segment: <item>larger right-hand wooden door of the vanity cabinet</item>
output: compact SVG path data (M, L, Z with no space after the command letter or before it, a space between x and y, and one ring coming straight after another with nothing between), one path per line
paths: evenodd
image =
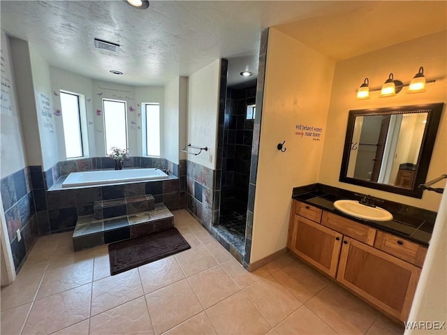
M420 269L344 237L337 281L399 320L406 321Z

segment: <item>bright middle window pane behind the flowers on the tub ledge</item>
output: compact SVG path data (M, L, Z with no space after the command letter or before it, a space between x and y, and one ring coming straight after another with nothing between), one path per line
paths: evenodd
M127 149L126 101L103 99L105 152L112 147Z

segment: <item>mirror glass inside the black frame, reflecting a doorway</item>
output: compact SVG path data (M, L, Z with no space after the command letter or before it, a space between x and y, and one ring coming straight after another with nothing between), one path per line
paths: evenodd
M426 121L427 113L356 117L348 175L411 188Z

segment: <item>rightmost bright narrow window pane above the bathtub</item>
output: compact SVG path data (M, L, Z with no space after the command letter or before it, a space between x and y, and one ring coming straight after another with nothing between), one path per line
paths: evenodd
M145 103L147 156L160 156L160 104Z

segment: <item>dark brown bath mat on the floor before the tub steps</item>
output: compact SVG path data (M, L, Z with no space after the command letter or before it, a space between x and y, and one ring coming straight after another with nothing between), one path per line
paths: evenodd
M191 246L177 228L170 228L135 239L109 244L110 274L139 267L154 260L179 253Z

